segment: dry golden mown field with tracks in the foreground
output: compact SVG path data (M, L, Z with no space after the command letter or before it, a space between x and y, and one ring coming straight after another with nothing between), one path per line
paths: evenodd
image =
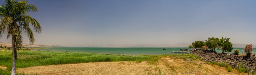
M217 65L196 60L160 58L158 62L99 62L18 68L18 73L37 75L234 75Z

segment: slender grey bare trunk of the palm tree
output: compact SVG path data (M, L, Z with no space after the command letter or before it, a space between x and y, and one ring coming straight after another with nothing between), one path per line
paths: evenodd
M16 51L15 44L13 41L13 68L12 68L11 75L16 75L16 57L17 57L17 51Z

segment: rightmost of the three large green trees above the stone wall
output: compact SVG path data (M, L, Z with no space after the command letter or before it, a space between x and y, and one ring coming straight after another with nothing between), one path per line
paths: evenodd
M218 40L217 44L218 44L218 48L220 48L222 50L222 53L224 52L231 52L233 47L232 47L232 43L229 42L230 38L221 38Z

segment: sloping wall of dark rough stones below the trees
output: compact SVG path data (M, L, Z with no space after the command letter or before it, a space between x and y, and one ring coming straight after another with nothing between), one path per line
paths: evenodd
M190 51L189 54L196 54L199 58L203 58L204 61L217 63L228 63L234 68L238 68L240 63L243 63L243 67L248 67L250 70L255 69L256 56L247 57L246 55L233 55L233 54L222 54L222 53L205 53L201 50Z

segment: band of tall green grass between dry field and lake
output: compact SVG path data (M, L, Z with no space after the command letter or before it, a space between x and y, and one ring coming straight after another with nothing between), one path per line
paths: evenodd
M18 51L16 68L27 68L43 65L57 65L70 63L89 63L89 62L115 62L115 61L157 61L154 56L143 55L111 55L93 54L76 52L48 52L48 51ZM12 52L0 51L0 66L12 69Z

